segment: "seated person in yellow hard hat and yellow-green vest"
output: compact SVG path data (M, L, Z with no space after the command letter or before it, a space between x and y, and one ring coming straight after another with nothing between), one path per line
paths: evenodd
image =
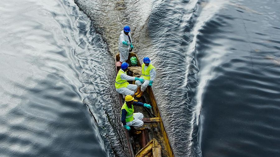
M123 127L128 130L130 130L129 126L134 126L135 129L140 129L140 127L144 124L142 121L144 116L140 112L134 113L133 105L152 108L151 105L142 102L135 102L133 101L134 98L131 95L125 96L124 100L125 102L121 109L121 122L123 123Z

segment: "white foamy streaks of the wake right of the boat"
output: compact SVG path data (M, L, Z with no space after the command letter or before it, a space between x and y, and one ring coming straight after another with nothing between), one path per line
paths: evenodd
M194 54L195 53L195 48L196 48L196 43L197 43L197 37L198 34L200 33L200 29L203 28L204 24L207 23L209 20L211 20L211 18L215 15L215 13L217 13L219 10L221 10L223 8L223 6L225 6L226 4L228 4L228 2L224 1L224 0L215 0L215 1L209 1L209 2L202 2L200 5L201 7L203 7L201 9L201 12L196 20L196 24L193 27L193 31L192 34L194 35L193 40L190 42L189 46L188 46L188 50L186 51L187 54ZM221 42L225 42L225 41L221 41ZM225 44L226 45L226 44ZM227 44L229 45L229 44ZM211 65L208 66L204 66L204 67L200 67L199 68L199 85L196 87L196 95L193 98L193 103L196 103L196 108L194 108L194 117L193 117L193 123L194 125L192 125L192 127L198 125L198 117L201 111L201 107L202 107L202 97L203 97L203 92L204 92L204 88L207 85L207 82L209 80L211 80L213 77L215 77L215 74L212 72L213 69L217 66L219 66L222 61L219 60L220 57L222 57L223 55L225 55L226 53L226 46L223 46L222 49L219 50L212 50L211 53L208 53L207 57L207 63L211 63ZM199 52L197 52L199 53ZM191 61L193 60L193 57L186 57L186 60L189 60L188 63L191 63ZM199 63L196 63L199 64ZM184 86L187 85L187 81L188 81L188 74L190 71L190 64L187 65L186 68L186 79L184 82ZM194 128L192 128L194 129ZM201 128L199 128L201 129Z

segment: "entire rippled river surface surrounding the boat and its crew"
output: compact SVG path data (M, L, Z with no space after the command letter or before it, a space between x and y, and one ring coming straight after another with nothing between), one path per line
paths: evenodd
M175 155L280 156L278 0L2 0L0 156L128 156L124 25Z

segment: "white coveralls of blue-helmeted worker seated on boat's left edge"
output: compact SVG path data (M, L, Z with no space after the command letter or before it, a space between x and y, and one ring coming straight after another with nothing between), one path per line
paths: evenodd
M128 75L125 75L125 74L121 74L121 79L122 80L127 80L127 81L133 81L135 79L135 77L128 76ZM123 95L134 95L135 92L137 91L137 85L129 84L126 88L125 87L118 88L118 89L116 88L116 91L120 94L123 94Z

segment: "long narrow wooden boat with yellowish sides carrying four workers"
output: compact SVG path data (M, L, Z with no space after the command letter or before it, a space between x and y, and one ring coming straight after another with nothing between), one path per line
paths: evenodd
M135 56L137 58L138 67L142 65L139 62L139 59L135 53L130 53L128 56L128 63L130 57ZM119 62L119 54L116 55L116 74L118 74L120 69L120 62ZM128 75L133 76L131 72L127 72ZM134 84L134 81L128 81L130 84ZM136 97L135 97L136 98ZM172 146L169 142L169 137L166 133L166 128L164 126L163 120L161 118L161 112L157 106L156 98L154 96L153 90L150 86L147 87L146 91L144 92L142 98L137 98L138 101L150 104L152 109L147 109L145 107L138 107L134 106L134 113L141 112L144 115L143 118L143 128L141 134L135 135L131 131L125 130L127 142L128 142L128 149L131 157L134 157L136 153L138 153L146 144L153 138L155 138L158 143L161 145L161 156L164 157L174 157ZM119 94L119 101L120 106L122 107L124 104L124 96Z

